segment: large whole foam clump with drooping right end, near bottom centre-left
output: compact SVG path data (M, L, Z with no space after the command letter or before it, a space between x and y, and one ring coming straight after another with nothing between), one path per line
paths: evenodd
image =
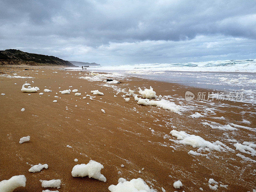
M94 178L103 182L106 182L107 179L103 174L100 173L100 170L104 166L96 161L90 160L88 164L77 164L72 169L73 177L85 177Z

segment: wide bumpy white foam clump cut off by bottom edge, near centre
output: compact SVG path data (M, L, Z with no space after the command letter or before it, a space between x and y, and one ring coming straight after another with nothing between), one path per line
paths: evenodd
M117 185L110 185L108 190L111 192L156 192L151 189L141 178L132 179L130 181L120 178Z

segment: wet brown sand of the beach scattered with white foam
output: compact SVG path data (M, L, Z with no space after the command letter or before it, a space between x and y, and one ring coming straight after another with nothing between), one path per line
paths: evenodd
M29 70L24 70L25 68ZM153 188L158 191L162 191L161 187L166 191L200 191L200 187L204 191L213 191L208 187L210 178L228 185L228 189L219 187L218 191L246 192L255 188L256 163L242 161L243 159L236 154L240 153L256 160L255 157L240 151L211 151L208 158L192 156L188 151L196 151L197 148L176 144L169 140L176 140L170 134L170 131L175 129L201 136L208 141L220 140L232 149L235 149L234 143L228 142L226 140L228 137L236 139L239 143L255 142L256 133L246 129L222 131L200 124L209 120L222 125L234 123L255 127L255 114L250 113L255 112L255 108L251 104L244 106L244 103L214 100L212 102L216 105L211 106L209 102L180 100L184 98L187 90L202 91L199 88L180 84L138 78L122 79L123 84L114 84L125 89L126 92L131 88L136 90L136 93L139 86L149 88L151 85L157 95L175 95L171 99L177 105L196 106L195 110L179 115L162 108L140 106L133 97L129 102L125 102L121 97L124 93L119 93L117 98L114 97L116 91L113 88L101 86L103 82L79 79L78 71L52 68L8 66L0 69L0 75L13 76L13 73L17 73L19 76L35 77L21 79L1 76L0 90L5 95L0 95L0 181L20 174L24 174L27 178L26 187L20 187L14 191L45 190L41 187L40 179L60 179L61 188L58 189L60 192L108 191L108 186L116 185L120 177L127 180L140 177L149 186L154 184ZM54 71L58 73L52 73ZM67 72L69 74L66 74ZM83 76L84 74L85 72ZM34 84L31 83L32 80ZM31 95L21 92L21 86L25 81L39 87L40 91L30 93ZM52 92L39 95L38 93L45 89L44 86ZM71 94L59 93L60 90L68 89L69 86L73 86L71 90L78 89L82 96L92 95L91 90L99 90L104 93L104 96L96 95L93 100L89 97L83 100L82 96L75 96L72 92ZM56 92L61 99L54 98ZM58 100L57 103L52 102L55 99ZM90 105L87 105L87 102ZM223 103L225 105L217 106ZM209 116L205 117L194 119L189 117L195 112L202 112L204 106L214 108L216 115L209 113ZM134 107L136 109L133 109ZM21 112L21 108L25 108L25 111ZM104 109L106 113L103 114L100 109ZM221 116L226 119L212 118ZM241 123L242 119L252 123L250 125ZM20 138L27 135L30 136L30 141L19 144ZM67 145L72 148L67 148ZM173 146L176 150L169 146ZM203 154L207 153L203 152ZM74 161L75 158L78 162ZM107 178L107 182L71 176L74 165L87 164L90 159L104 165L101 173ZM30 164L38 163L46 163L49 168L36 173L28 172ZM124 164L123 168L121 164ZM145 169L139 173L138 171L143 167ZM121 174L118 174L119 171ZM173 188L173 182L176 180L182 181L181 189Z

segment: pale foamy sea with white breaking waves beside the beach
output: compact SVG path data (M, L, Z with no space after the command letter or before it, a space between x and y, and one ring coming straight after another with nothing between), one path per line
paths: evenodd
M87 70L211 89L215 99L256 104L256 59L108 65Z

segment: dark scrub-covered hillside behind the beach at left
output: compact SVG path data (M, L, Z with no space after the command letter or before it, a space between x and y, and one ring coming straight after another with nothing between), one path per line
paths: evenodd
M23 52L16 49L0 51L0 65L51 65L74 66L72 63L58 57Z

